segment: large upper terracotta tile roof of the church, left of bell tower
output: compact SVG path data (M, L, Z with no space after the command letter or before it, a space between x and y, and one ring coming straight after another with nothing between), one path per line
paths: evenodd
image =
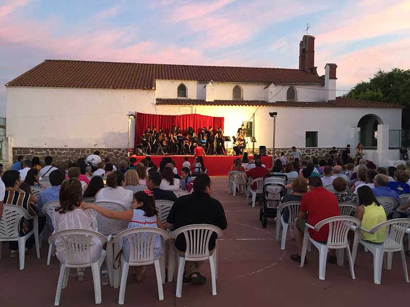
M155 79L249 83L323 84L298 69L45 60L6 86L152 89Z

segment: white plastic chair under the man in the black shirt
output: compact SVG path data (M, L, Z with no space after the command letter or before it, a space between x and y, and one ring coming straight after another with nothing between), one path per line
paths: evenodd
M218 238L222 236L222 230L219 227L208 224L196 224L178 228L171 233L171 238L176 240L179 234L185 236L187 250L185 257L181 257L175 252L175 244L170 244L170 265L168 266L168 281L172 281L175 269L175 256L178 264L178 277L176 284L176 297L182 295L182 279L185 268L185 261L202 261L209 260L212 276L212 295L216 295L216 279L218 272L218 239L215 242L215 249L212 255L209 253L209 240L212 233L216 233ZM170 280L171 279L171 280Z

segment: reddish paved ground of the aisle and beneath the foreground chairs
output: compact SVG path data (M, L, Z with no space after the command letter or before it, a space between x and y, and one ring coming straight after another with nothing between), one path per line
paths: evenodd
M359 251L356 279L350 278L347 264L343 267L327 265L326 280L318 279L318 254L308 253L309 264L304 268L289 259L295 242L288 240L281 251L274 241L275 222L269 220L262 229L259 207L245 205L243 195L227 192L227 179L213 177L213 196L221 201L228 218L226 235L220 241L217 295L211 295L211 284L183 286L182 298L175 298L175 283L164 284L163 301L157 299L154 270L149 268L141 283L128 280L126 305L139 306L385 306L405 303L410 284L404 282L400 256L393 259L393 269L383 270L382 284L373 283L373 258ZM407 246L407 245L406 245ZM0 260L0 305L52 306L58 277L58 261L52 258L46 266L47 250L43 245L40 259L30 252L26 268L18 270L17 258L9 258L3 247ZM410 257L407 258L410 262ZM209 265L201 273L210 280ZM116 306L118 290L101 286L101 306ZM69 279L61 294L60 306L83 307L94 304L91 271L86 271L84 282Z

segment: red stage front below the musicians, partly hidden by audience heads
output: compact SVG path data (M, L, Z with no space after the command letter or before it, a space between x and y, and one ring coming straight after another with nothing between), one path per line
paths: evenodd
M137 158L137 162L140 162L146 156L133 156ZM182 163L185 161L185 157L189 158L189 162L191 163L191 167L194 165L194 156L150 156L151 160L154 161L156 166L159 166L159 162L161 162L163 157L171 157L175 163L176 168L178 169L178 174L181 173ZM203 157L203 163L205 167L208 169L209 176L223 176L226 175L230 170L233 162L236 158L242 159L242 156L206 156ZM249 160L251 160L253 156L249 156ZM263 156L262 164L266 167L272 167L272 156Z

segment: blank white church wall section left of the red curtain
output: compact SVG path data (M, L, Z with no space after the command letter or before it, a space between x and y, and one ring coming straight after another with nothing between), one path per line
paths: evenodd
M7 136L13 147L126 148L126 115L154 103L155 91L7 87Z

